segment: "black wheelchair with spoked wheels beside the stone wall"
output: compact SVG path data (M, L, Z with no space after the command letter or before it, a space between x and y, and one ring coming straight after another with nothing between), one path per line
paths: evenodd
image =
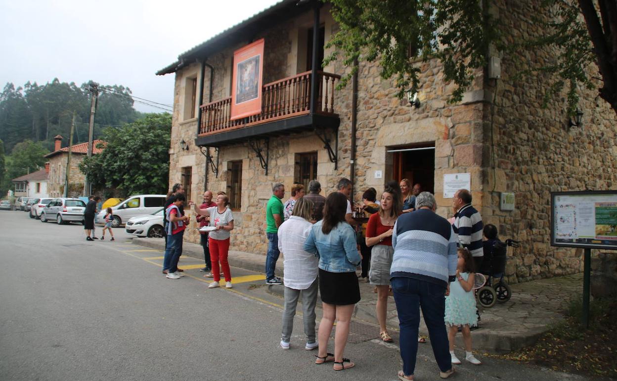
M478 303L484 308L491 308L495 303L505 303L512 297L510 285L503 280L508 246L518 248L519 241L494 240L491 249L484 251L484 261L481 268L476 271L486 278L484 285L476 291Z

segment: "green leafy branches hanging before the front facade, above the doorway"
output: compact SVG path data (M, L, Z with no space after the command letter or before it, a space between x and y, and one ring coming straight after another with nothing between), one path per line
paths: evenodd
M337 49L325 64L343 54L345 65L379 60L382 78L396 78L401 98L418 88L418 61L433 57L444 63L444 80L457 88L460 101L473 71L486 65L491 43L499 43L497 23L481 0L333 0L339 31L328 46ZM341 78L345 86L352 72Z

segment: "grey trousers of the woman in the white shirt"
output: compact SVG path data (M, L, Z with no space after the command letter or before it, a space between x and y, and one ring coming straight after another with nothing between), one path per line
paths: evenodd
M315 343L315 304L317 303L317 290L319 277L306 290L295 290L285 287L285 308L283 309L283 341L289 343L291 331L294 329L294 316L298 298L302 295L302 319L304 320L304 333L308 343Z

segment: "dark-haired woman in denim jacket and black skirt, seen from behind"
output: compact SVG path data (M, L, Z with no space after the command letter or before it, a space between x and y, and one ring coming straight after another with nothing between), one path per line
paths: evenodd
M360 301L360 287L355 269L362 261L355 241L355 231L345 222L347 198L331 193L323 207L323 220L313 225L304 250L319 257L319 289L323 317L319 325L319 353L315 364L334 361L334 370L342 371L355 364L343 358L349 336L349 322L354 306ZM334 354L328 353L328 339L336 319Z

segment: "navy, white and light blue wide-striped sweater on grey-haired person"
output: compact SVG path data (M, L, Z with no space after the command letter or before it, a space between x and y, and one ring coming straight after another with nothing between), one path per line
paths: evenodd
M392 233L391 277L447 285L457 272L457 235L443 217L428 209L402 214Z

